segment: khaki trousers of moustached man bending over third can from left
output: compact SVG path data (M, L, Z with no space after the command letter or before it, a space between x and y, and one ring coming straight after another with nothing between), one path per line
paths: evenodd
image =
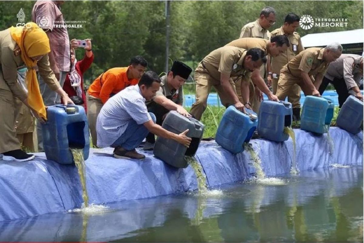
M229 97L225 94L223 87L220 84L219 80L213 79L208 73L195 71L194 80L196 82L196 101L192 105L190 114L193 115L197 120L201 120L202 113L205 111L207 107L207 97L211 91L211 87L214 87L217 91L221 99L221 103L228 107L229 105L233 105L232 97ZM230 80L230 84L236 92L234 82Z

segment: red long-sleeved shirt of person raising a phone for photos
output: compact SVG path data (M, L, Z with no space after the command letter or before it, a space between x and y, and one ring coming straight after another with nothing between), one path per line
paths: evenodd
M91 57L87 57L87 55L85 53L84 58L82 60L76 62L76 67L75 67L76 71L78 72L78 74L81 77L82 100L84 102L86 112L87 112L87 104L86 104L86 94L85 94L85 91L83 90L83 74L84 74L84 72L86 72L86 70L88 68L90 68L93 60L94 60L93 53L92 53ZM67 74L66 80L64 81L63 90L68 94L69 97L77 96L76 90L74 89L74 87L71 86L69 74Z

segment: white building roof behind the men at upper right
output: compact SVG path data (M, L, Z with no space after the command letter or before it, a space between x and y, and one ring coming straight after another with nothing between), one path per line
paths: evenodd
M364 30L347 30L337 32L308 34L301 38L302 45L307 47L327 46L332 42L340 44L363 43Z

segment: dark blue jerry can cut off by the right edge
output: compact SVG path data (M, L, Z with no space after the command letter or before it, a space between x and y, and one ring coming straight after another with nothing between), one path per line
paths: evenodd
M363 101L350 95L341 107L339 115L337 115L336 124L349 133L357 134L361 130L362 123Z

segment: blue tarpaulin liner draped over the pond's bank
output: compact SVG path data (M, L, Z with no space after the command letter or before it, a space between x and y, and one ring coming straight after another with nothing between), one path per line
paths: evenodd
M363 132L353 135L331 128L335 146L330 154L327 135L295 129L296 161L301 172L330 164L363 165ZM268 177L289 173L293 143L251 140ZM193 169L173 168L145 153L144 161L116 159L112 148L91 149L86 161L90 203L145 199L197 189ZM249 153L232 154L214 141L202 142L195 158L201 163L210 188L245 180L255 173ZM37 153L33 161L0 161L0 221L51 212L66 212L82 204L82 189L74 165L60 165Z

